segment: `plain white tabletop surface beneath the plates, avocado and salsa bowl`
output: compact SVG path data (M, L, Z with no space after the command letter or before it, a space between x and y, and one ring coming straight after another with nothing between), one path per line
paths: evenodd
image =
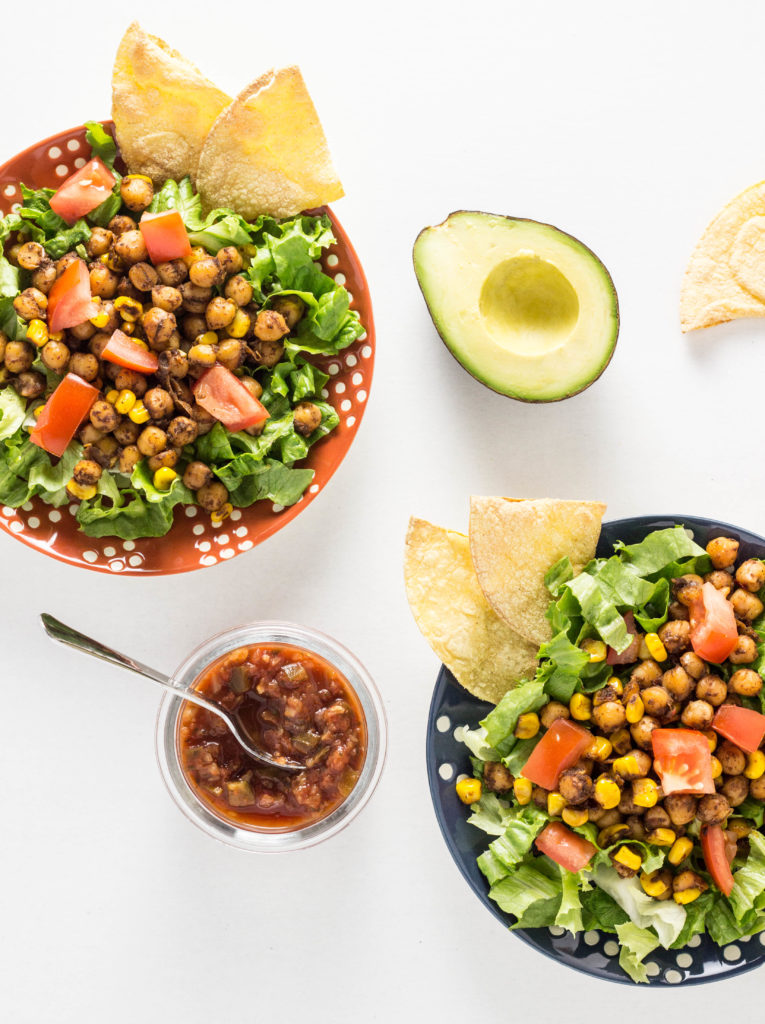
M369 275L367 418L328 488L231 562L110 579L0 537L0 1019L557 1022L760 1015L762 971L714 987L608 986L506 934L438 834L424 738L435 656L407 608L408 516L464 527L468 496L602 499L765 531L763 325L683 338L702 229L765 176L765 7L728 2L372 5L40 0L4 11L0 159L110 111L128 19L229 92L298 62ZM453 360L412 271L459 208L535 217L591 246L622 307L610 367L524 406ZM258 857L198 833L155 764L151 683L54 648L49 610L159 667L230 624L286 617L352 647L383 691L381 785L340 837Z

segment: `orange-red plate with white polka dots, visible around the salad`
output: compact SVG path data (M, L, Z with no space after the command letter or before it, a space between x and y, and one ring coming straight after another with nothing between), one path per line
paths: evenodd
M34 187L55 188L65 177L83 167L88 157L84 128L47 139L14 157L0 168L0 211L7 213L17 207L20 181ZM339 426L314 445L309 458L301 463L312 469L315 476L296 505L285 509L259 502L249 509L235 509L222 524L211 522L196 507L186 508L185 515L183 510L176 509L175 522L167 537L120 542L115 538L92 539L82 535L75 519L77 504L68 509L51 509L36 499L23 509L7 506L0 509L0 530L37 551L83 568L124 575L164 575L227 561L251 550L298 515L327 484L350 447L364 415L374 370L374 324L364 270L334 214L329 209L327 213L338 241L325 254L323 269L338 284L347 285L351 308L358 311L366 333L337 355L313 360L330 375L324 397L342 415ZM232 523L239 524L236 531Z

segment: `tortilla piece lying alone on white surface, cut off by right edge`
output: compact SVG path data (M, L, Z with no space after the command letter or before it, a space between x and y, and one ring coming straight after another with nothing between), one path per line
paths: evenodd
M765 181L718 213L690 257L680 295L680 326L695 331L743 316L765 316Z

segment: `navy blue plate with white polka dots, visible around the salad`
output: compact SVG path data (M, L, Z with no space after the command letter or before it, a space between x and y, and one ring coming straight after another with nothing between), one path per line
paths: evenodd
M598 555L612 553L613 543L635 544L654 529L682 523L692 530L697 544L706 546L713 537L724 535L740 542L743 558L765 558L765 539L728 523L695 516L639 516L604 523ZM428 716L426 756L430 795L443 839L463 878L486 909L506 927L514 919L488 898L486 880L475 858L486 848L487 837L467 823L467 814L455 792L460 775L471 773L467 748L460 741L463 726L474 728L491 710L491 705L471 696L444 667L438 674ZM584 932L571 935L560 928L517 931L527 945L546 956L607 981L631 985L619 966L619 946L612 935ZM656 949L646 957L652 985L692 985L718 981L759 967L765 961L765 932L720 947L706 936L694 936L684 949Z

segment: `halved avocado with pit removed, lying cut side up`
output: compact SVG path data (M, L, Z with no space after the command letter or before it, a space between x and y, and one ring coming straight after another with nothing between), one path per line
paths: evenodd
M415 242L438 334L476 380L522 401L584 391L619 336L613 282L570 234L536 220L460 210Z

